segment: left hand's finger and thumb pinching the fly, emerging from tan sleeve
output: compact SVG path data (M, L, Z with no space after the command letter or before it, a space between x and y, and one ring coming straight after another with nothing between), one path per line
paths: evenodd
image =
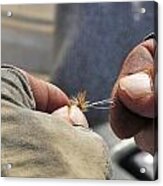
M70 100L68 96L58 87L48 82L42 81L21 70L27 77L33 96L36 102L36 110L52 113L53 116L60 117L72 125L88 127L86 117L76 106L68 106Z

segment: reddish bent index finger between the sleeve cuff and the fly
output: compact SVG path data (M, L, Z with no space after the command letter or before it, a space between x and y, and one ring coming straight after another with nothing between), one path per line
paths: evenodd
M37 79L23 71L27 77L36 102L36 109L52 113L54 110L69 105L68 96L57 86Z

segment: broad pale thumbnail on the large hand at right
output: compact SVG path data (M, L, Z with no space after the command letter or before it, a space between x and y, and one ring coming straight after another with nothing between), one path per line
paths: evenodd
M152 80L147 73L139 72L121 78L119 87L130 98L139 99L152 93Z

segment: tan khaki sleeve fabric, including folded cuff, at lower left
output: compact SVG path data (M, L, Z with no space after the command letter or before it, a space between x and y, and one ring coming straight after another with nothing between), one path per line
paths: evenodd
M99 135L35 111L25 77L14 67L1 72L2 176L110 178L108 149Z

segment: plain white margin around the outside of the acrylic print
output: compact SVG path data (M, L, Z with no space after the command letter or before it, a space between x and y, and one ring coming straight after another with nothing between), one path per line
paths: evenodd
M120 2L121 0L112 0L113 1L118 1ZM134 0L130 0L130 1L134 1ZM17 3L25 3L25 4L35 4L35 3L77 3L77 2L98 2L98 1L94 1L94 0L1 0L1 4L17 4ZM108 0L103 0L101 2L109 2ZM163 82L163 52L161 51L163 48L163 37L161 35L161 33L163 33L163 27L160 20L163 20L163 1L162 0L157 0L156 2L159 3L159 141L160 143L163 143L163 119L162 116L163 114L161 112L163 112L163 108L162 104L163 100L162 100L162 96L163 95L163 86L161 87L161 84ZM159 145L159 180L155 181L155 182L140 182L140 181L92 181L92 180L55 180L55 179L25 179L25 178L0 178L0 185L3 186L28 186L28 185L39 185L39 186L54 186L55 184L57 185L68 185L68 186L81 186L81 185L89 185L89 186L108 186L108 185L121 185L121 186L126 186L128 184L132 184L132 185L144 185L144 184L149 184L149 185L162 185L163 184L163 179L162 179L162 149L161 149L161 145Z

